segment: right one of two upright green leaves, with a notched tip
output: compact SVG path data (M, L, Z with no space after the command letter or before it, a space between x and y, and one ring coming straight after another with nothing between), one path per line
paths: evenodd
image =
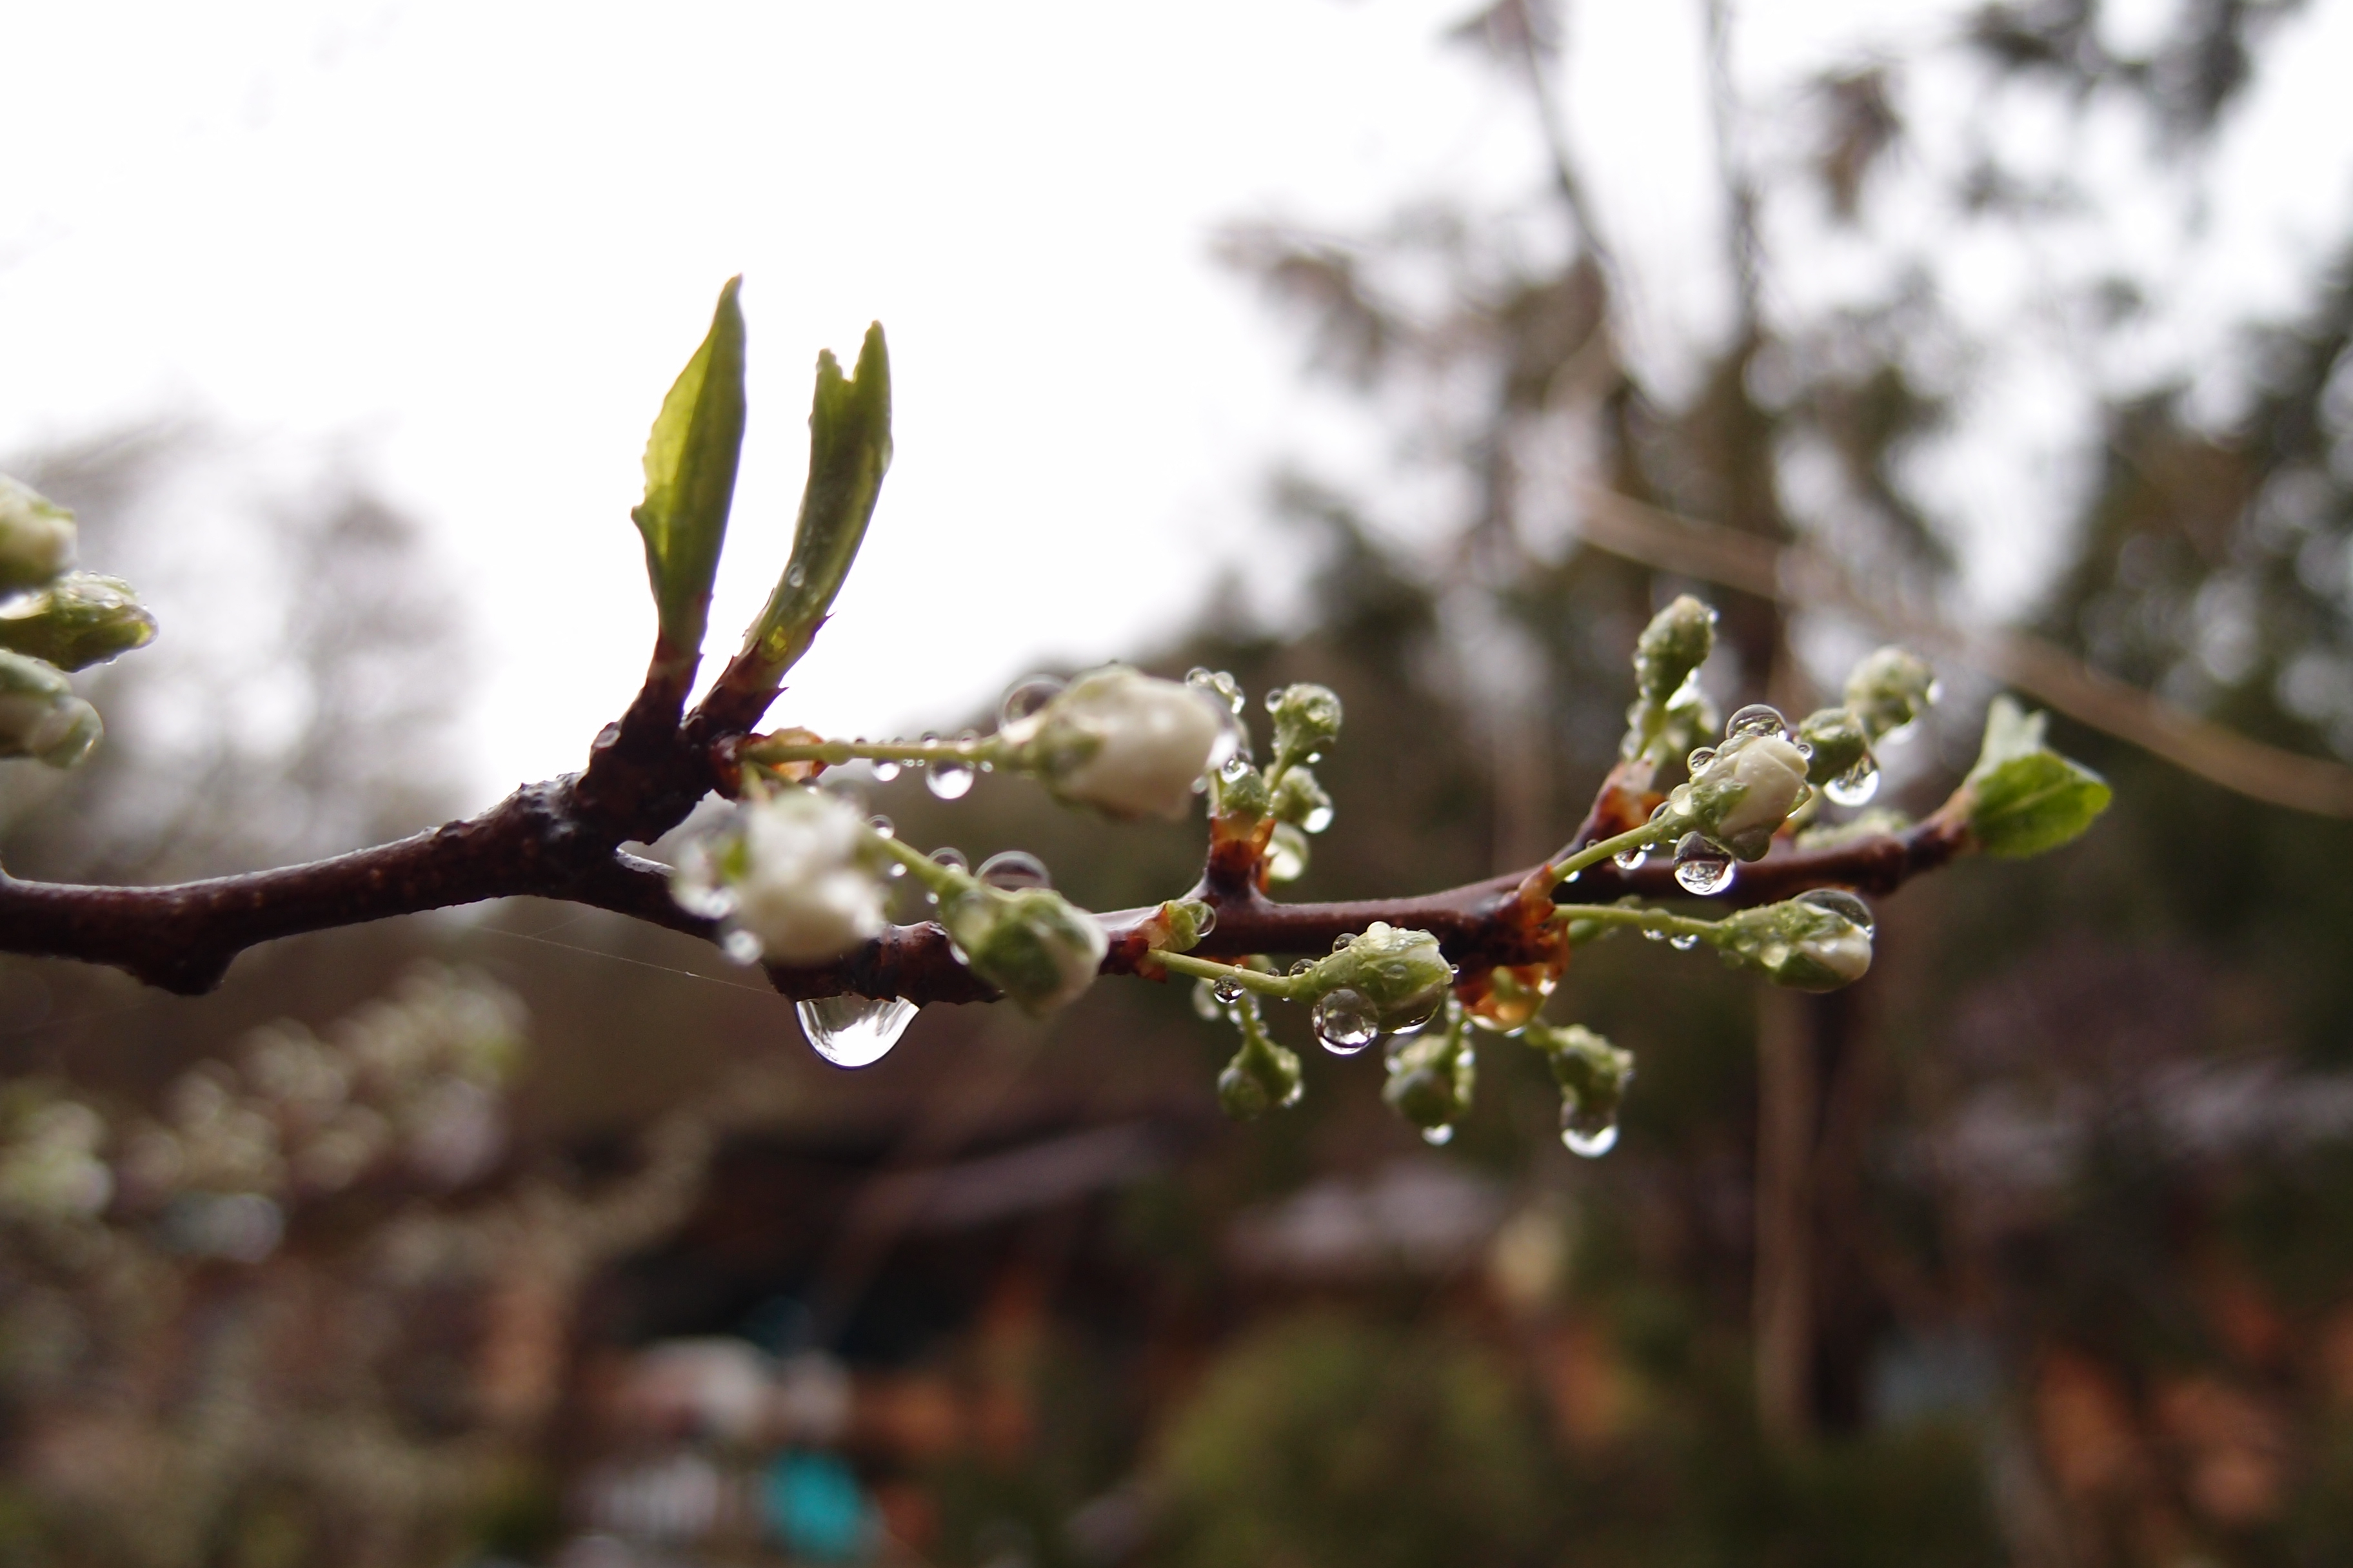
M800 496L793 559L744 637L744 663L774 684L800 663L833 609L889 470L889 350L882 322L866 329L859 367L842 376L833 353L816 355L809 409L809 484Z

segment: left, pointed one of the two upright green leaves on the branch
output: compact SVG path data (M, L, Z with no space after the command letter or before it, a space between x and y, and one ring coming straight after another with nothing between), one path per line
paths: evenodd
M678 371L645 437L645 501L631 512L645 534L645 576L661 614L661 656L692 663L711 618L711 578L727 538L736 461L744 454L741 277L720 289L704 346Z

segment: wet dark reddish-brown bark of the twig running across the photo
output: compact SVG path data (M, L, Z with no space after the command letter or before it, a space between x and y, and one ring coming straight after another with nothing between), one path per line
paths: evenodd
M525 785L480 816L393 844L268 872L146 889L0 875L0 952L111 964L148 985L200 994L259 943L518 896L609 910L718 940L715 922L671 900L668 867L626 853L621 844L659 839L711 790L734 795L734 745L760 722L776 691L772 682L746 682L739 661L694 712L685 712L694 665L666 654L656 649L638 698L616 724L605 726L581 773ZM1579 842L1593 842L1621 806L1633 804L1621 799L1638 792L1626 783L1619 773L1605 780ZM1207 865L1191 896L1217 910L1217 926L1191 952L1209 959L1327 952L1332 938L1379 919L1431 931L1447 957L1471 973L1541 959L1551 931L1544 917L1553 903L1682 896L1666 858L1652 856L1633 872L1609 863L1588 867L1548 898L1534 882L1541 867L1532 867L1414 898L1278 903L1261 891L1264 846L1264 832L1235 832L1212 820ZM1892 893L1967 846L1962 818L1951 809L1899 835L1835 849L1798 851L1784 839L1765 860L1744 865L1734 886L1708 903L1772 903L1812 886ZM1104 973L1153 973L1155 914L1122 910L1101 917L1111 933ZM920 1004L995 999L929 922L892 926L831 964L772 964L767 978L798 999L845 992Z

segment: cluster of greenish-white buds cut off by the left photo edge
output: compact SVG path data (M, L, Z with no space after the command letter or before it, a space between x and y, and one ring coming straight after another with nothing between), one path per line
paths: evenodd
M0 757L87 757L104 726L66 672L155 639L129 583L73 571L73 512L0 475Z

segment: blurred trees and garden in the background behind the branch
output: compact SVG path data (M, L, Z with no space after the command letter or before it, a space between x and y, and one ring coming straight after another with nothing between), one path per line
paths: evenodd
M2033 317L1991 329L1948 273L2108 221L2066 150L2118 120L2193 230L2200 160L2292 9L2181 5L2125 49L2092 0L1988 7L1932 56L1753 103L1713 0L1734 308L1675 386L1628 346L1642 280L1560 129L1574 12L1466 19L1447 47L1525 96L1544 190L1224 240L1391 456L1377 482L1306 461L1271 482L1271 527L1313 559L1297 623L1212 607L1151 661L1346 701L1325 766L1346 809L1299 893L1551 851L1614 757L1633 635L1682 588L1725 609L1711 689L1793 712L1864 646L1962 628L1941 639L1958 717L1885 785L1939 797L1993 682L1969 665L1981 543L1934 454L2005 395L2019 343L2061 343L2099 407L2021 621L2172 710L2353 757L2353 235L2228 364L2158 376L2113 369L2151 362L2155 273L2049 263ZM1962 134L1918 96L1953 80ZM1866 284L1800 277L1857 256ZM188 440L26 477L139 520ZM111 696L111 771L16 802L12 867L155 879L438 813L419 759L454 654L409 527L344 480L273 510L292 588L271 710L202 665ZM1711 581L1758 557L1678 517L1831 559L1845 590ZM202 1011L7 961L0 1549L2344 1561L2344 813L2235 797L2092 726L2064 745L2118 785L2101 832L1908 889L1854 992L1581 952L1572 1011L1640 1058L1598 1164L1562 1154L1541 1063L1513 1051L1442 1161L1369 1074L1313 1053L1299 1112L1226 1128L1228 1046L1176 990L1099 987L1045 1030L932 1009L835 1074L696 943L574 910L301 938ZM1193 830L1073 820L1005 778L953 813L911 778L873 797L974 860L1064 844L1087 907L1158 900L1198 860ZM508 1044L468 1056L485 1032L452 1009ZM391 1023L412 1016L440 1023ZM367 1044L388 1037L426 1044ZM245 1145L191 1164L221 1128ZM313 1154L329 1133L346 1154ZM139 1175L165 1135L179 1175Z

